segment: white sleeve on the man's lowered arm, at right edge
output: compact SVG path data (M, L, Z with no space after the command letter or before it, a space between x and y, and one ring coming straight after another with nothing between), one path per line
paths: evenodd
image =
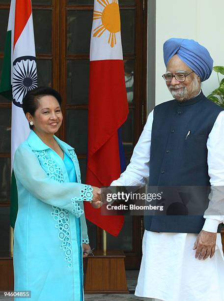
M208 136L207 149L212 193L202 230L216 233L219 224L224 222L224 111L218 115ZM216 215L209 215L209 212L215 212Z

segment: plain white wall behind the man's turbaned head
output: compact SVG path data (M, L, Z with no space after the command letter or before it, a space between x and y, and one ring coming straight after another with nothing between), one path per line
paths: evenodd
M150 0L148 2L150 8ZM214 65L224 65L223 13L224 0L156 0L156 105L172 99L162 78L166 71L163 44L168 38L195 39L209 50ZM148 24L150 26L150 20ZM202 90L208 95L217 87L217 73L213 71L202 83Z

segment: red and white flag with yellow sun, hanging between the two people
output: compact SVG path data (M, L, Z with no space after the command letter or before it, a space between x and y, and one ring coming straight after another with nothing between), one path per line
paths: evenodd
M109 186L124 171L120 127L128 116L118 0L95 0L90 44L86 182ZM85 202L88 220L117 236L123 216L103 216Z

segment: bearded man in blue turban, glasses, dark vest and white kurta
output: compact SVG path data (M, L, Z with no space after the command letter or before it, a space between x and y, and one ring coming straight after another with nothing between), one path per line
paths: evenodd
M224 110L201 82L212 72L209 52L194 40L164 44L163 78L173 100L149 114L131 163L111 186L224 185ZM203 198L198 196L199 205ZM222 213L223 214L223 213ZM144 216L136 296L164 301L224 301L221 215ZM219 227L218 227L219 226Z

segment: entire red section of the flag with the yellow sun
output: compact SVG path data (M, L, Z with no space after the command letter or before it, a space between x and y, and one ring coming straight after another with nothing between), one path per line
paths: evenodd
M120 176L118 128L128 115L123 60L90 62L88 107L88 160L86 182L109 186ZM85 202L85 216L98 227L117 236L123 216L103 216Z

